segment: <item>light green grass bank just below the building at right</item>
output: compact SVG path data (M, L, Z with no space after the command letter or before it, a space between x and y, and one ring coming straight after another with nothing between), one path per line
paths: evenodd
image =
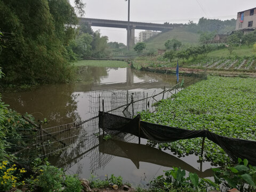
M248 56L251 57L255 55L255 52L253 52L252 47L248 47L246 45L243 45L241 47L235 47L234 51L232 52L233 56ZM213 51L208 54L209 57L228 57L230 56L228 49L221 49L218 51Z

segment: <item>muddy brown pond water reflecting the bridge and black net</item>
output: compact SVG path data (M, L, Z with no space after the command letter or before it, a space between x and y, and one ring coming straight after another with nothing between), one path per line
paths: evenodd
M104 95L102 90L109 90L107 95L111 93L111 97L116 92L134 92L137 93L134 95L145 97L147 93L150 96L163 91L164 87L172 87L176 81L175 75L130 68L81 67L79 81L76 83L42 85L35 90L3 93L2 97L10 108L21 114L32 114L36 121L46 118L48 123L44 127L51 127L95 116L100 105L97 100L99 91ZM165 94L165 98L170 94ZM162 96L159 95L158 99L162 99ZM151 99L149 102L151 104L155 101ZM114 104L119 105L117 99ZM146 109L146 102L141 106L139 110ZM62 166L67 173L78 174L80 178L90 178L93 174L105 179L106 175L109 177L114 174L122 175L124 181L135 185L146 185L173 166L196 172L199 177L212 175L209 162L201 164L197 162L198 157L195 155L178 157L171 151L149 147L144 139L139 145L138 138L133 135L125 134L107 141L100 139L97 120L87 122L82 131L83 141L80 138L72 147L49 157L52 164Z

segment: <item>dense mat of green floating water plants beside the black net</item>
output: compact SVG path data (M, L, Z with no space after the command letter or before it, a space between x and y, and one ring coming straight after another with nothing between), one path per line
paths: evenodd
M207 129L226 137L256 140L256 79L209 77L171 99L157 103L156 113L143 111L143 121L188 130ZM151 142L151 145L156 143ZM180 155L201 154L202 138L158 145ZM204 159L214 164L230 161L226 153L206 139Z

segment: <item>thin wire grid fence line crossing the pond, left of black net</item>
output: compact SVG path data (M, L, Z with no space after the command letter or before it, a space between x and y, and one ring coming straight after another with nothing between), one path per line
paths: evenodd
M184 84L180 82L170 88L162 87L164 88L163 91L159 91L158 93L156 90L147 90L148 93L125 90L92 91L90 92L90 119L44 128L42 124L34 124L26 118L28 123L35 126L34 134L24 133L24 135L27 135L28 137L26 140L33 141L33 143L27 143L23 146L13 146L10 151L17 156L28 157L28 159L55 155L63 156L63 154L66 154L63 156L63 159L65 159L67 156L74 156L74 154L71 155L70 151L75 150L77 150L77 154L85 155L91 153L93 156L95 155L92 153L93 148L97 146L98 142L94 137L96 137L95 135L98 137L103 134L102 130L100 130L98 126L98 112L99 109L103 107L101 102L102 100L104 100L104 108L107 113L131 118L142 110L147 109L153 112L154 107L151 107L149 103L152 104L163 98L170 97L172 94L175 94L182 89L182 84L186 87L190 84L201 81L202 79L205 79L205 76L197 79L194 77L186 77ZM95 132L95 129L98 131ZM90 139L90 137L93 139ZM123 135L123 137L125 138L125 135ZM15 143L14 140L13 143ZM76 149L79 146L83 147ZM83 151L79 151L81 148L83 148ZM106 157L106 159L109 158ZM60 162L60 165L63 164L65 163Z

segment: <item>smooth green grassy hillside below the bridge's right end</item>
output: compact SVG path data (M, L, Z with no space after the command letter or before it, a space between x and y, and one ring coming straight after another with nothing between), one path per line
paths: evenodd
M168 39L173 39L176 38L182 44L189 44L189 45L197 45L198 44L198 39L199 39L199 34L196 33L191 33L189 31L186 31L182 28L175 28L171 31L167 31L165 33L158 34L147 41L146 47L147 49L165 49L164 43Z

